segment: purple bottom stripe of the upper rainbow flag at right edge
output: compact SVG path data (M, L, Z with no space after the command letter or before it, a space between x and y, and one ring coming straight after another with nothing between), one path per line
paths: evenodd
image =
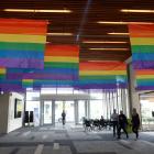
M134 69L151 69L154 68L154 61L136 61L133 62Z

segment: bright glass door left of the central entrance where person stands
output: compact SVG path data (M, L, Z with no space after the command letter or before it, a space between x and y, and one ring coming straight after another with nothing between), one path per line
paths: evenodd
M52 124L52 101L44 101L44 124Z

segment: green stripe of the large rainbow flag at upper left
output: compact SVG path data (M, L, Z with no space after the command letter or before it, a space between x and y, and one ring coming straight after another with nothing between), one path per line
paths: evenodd
M41 43L9 43L0 42L0 51L37 51L45 50L45 45Z

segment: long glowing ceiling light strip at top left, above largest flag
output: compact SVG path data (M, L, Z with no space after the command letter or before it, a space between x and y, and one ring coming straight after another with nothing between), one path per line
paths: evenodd
M72 13L72 10L34 10L34 9L3 9L6 12L32 12L32 13Z

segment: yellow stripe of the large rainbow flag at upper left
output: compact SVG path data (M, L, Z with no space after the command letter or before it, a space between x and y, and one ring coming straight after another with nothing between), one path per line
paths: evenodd
M0 42L45 43L45 35L0 34Z

